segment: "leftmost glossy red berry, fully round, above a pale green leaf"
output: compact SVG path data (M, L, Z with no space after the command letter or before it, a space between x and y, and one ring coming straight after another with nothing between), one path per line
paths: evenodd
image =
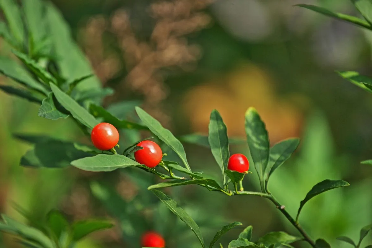
M119 132L110 123L102 122L97 124L90 133L93 145L100 150L114 148L119 142Z

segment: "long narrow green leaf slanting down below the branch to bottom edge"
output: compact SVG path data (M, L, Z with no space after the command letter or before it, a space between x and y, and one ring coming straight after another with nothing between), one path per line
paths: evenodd
M137 110L138 111L138 110ZM143 111L143 110L142 110ZM199 229L199 226L195 223L195 221L190 217L185 210L181 207L177 206L177 202L170 198L170 196L164 194L159 190L151 190L155 196L157 196L178 218L180 218L186 225L195 233L196 237L199 239L203 248L205 248L203 236Z

